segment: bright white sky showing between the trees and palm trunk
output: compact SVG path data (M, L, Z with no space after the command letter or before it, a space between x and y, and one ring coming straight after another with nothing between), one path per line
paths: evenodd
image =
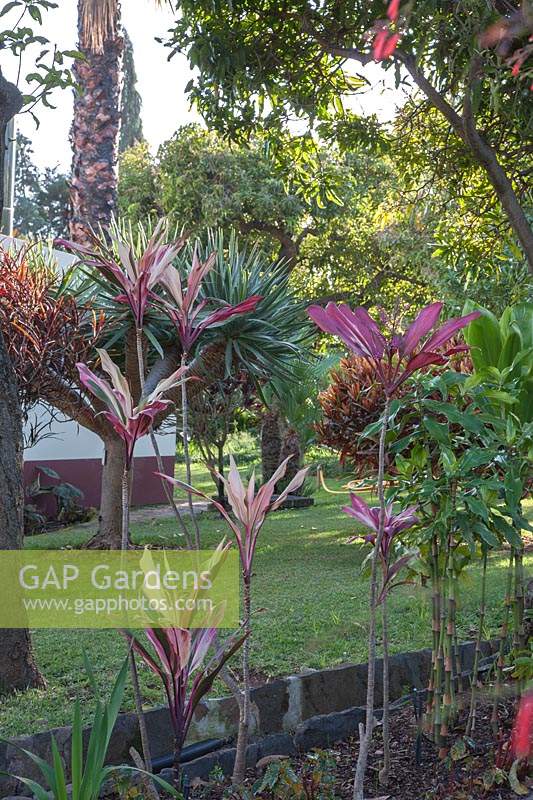
M58 8L44 15L42 31L39 32L60 49L74 49L77 0L57 2ZM199 121L198 115L189 108L185 96L185 86L192 73L185 56L177 55L168 61L168 50L155 41L156 36L164 38L172 24L173 15L168 7L157 8L153 0L123 0L122 16L134 48L137 89L143 103L144 135L152 151L156 152L158 146L169 139L180 125ZM11 20L8 16L4 21ZM32 70L30 53L23 63L23 74ZM10 66L3 63L2 69L6 77L13 79L14 64L11 71ZM392 119L405 95L390 83L385 87L381 85L384 73L378 64L368 65L363 74L375 88L353 99L351 107L364 114L376 113L383 121ZM21 88L24 91L23 82ZM72 120L72 91L56 91L52 102L56 106L54 110L39 107L39 128L36 129L28 114L19 115L18 126L32 140L35 162L40 167L58 166L67 172L71 161L68 133Z

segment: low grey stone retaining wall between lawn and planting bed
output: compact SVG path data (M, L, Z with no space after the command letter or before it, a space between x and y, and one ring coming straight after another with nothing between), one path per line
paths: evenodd
M487 642L483 645L485 656L494 652ZM461 645L463 671L471 671L474 657L472 643ZM431 651L418 650L401 653L390 660L390 697L396 700L413 687L425 688L431 666ZM380 706L382 664L377 665L376 705ZM253 766L266 755L290 755L297 750L327 747L334 741L357 733L364 719L366 702L366 664L346 664L331 669L308 671L280 678L252 690L254 724L248 761ZM237 732L238 709L232 697L214 698L201 703L187 744L205 739L227 739ZM146 713L152 757L163 757L172 752L172 731L166 708L155 708ZM51 734L66 764L70 763L71 729L57 728L45 733L19 738L15 743L50 761ZM88 730L85 739L88 739ZM111 738L108 763L129 763L130 747L140 750L137 718L135 714L121 714ZM234 759L233 748L203 756L186 765L190 777L206 778L215 765L229 772ZM0 773L40 780L35 765L10 744L0 743ZM29 794L28 790L7 778L0 778L0 797Z

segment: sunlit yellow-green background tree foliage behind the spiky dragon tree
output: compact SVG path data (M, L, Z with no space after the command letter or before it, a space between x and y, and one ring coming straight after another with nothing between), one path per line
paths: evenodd
M399 174L385 131L374 122L367 147L353 127L346 120L335 128L349 152L283 133L274 154L265 136L235 145L184 126L157 159L145 144L123 154L121 212L132 222L165 213L203 239L209 227L235 230L249 247L259 242L273 260L285 259L304 298L423 302L430 232L395 199Z

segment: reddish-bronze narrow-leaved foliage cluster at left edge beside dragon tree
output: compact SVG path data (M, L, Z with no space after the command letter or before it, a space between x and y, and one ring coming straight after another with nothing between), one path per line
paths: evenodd
M25 411L70 391L77 383L75 365L92 359L103 323L72 295L58 292L59 282L28 249L0 248L0 330Z

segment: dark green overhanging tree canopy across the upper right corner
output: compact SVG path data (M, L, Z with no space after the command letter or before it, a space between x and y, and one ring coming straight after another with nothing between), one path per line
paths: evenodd
M380 0L286 0L281 6L277 0L178 0L176 6L167 45L171 53L186 52L195 68L190 97L210 127L237 139L260 129L275 140L295 119L315 128L342 119L343 99L364 85L357 70L373 58L368 40L385 13ZM460 162L467 154L484 171L533 271L528 72L516 80L501 48L485 46L481 36L505 10L519 18L513 41L527 42L522 9L527 4L518 0L505 7L499 0L406 4L400 44L383 67L442 115ZM450 158L454 163L452 152Z

